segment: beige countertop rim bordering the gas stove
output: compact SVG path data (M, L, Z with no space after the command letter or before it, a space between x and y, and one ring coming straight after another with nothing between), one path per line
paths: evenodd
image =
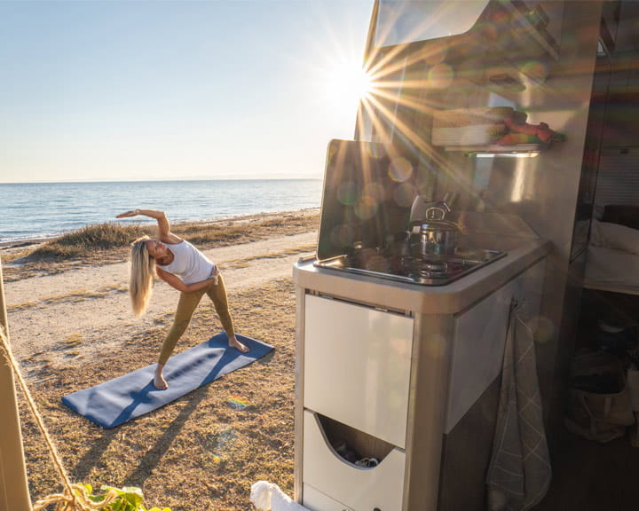
M492 247L497 247L497 243ZM422 286L319 268L313 265L314 257L302 258L294 265L293 279L297 287L389 311L457 314L543 259L550 252L551 243L499 237L499 247L495 249L504 250L507 255L446 286Z

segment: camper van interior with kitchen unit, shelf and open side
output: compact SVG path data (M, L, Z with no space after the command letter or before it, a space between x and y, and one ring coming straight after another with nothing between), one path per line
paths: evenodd
M635 509L639 3L375 2L294 268L296 500Z

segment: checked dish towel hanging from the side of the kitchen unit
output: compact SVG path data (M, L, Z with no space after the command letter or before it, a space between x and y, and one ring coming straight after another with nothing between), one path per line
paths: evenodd
M548 491L552 470L533 332L513 301L504 347L493 454L486 476L489 511L523 511Z

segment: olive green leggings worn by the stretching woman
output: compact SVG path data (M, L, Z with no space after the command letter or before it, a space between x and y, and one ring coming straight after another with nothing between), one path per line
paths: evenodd
M193 293L180 293L179 302L177 302L177 311L173 319L173 325L170 327L162 344L162 351L158 358L158 364L164 366L169 360L170 354L173 352L177 341L185 333L186 327L193 318L193 312L200 303L201 297L206 293L216 308L217 316L220 318L222 327L225 329L226 335L231 337L235 334L233 330L233 318L228 309L228 300L226 299L226 287L222 275L217 278L217 285L211 283L209 287L194 291Z

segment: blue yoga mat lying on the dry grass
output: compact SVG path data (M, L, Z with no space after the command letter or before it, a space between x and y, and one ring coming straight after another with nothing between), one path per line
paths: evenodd
M62 397L62 403L102 428L114 428L247 366L272 350L272 346L264 342L243 335L237 338L248 346L248 353L229 348L223 333L169 358L164 366L169 389L155 389L153 364L90 389L78 390Z

